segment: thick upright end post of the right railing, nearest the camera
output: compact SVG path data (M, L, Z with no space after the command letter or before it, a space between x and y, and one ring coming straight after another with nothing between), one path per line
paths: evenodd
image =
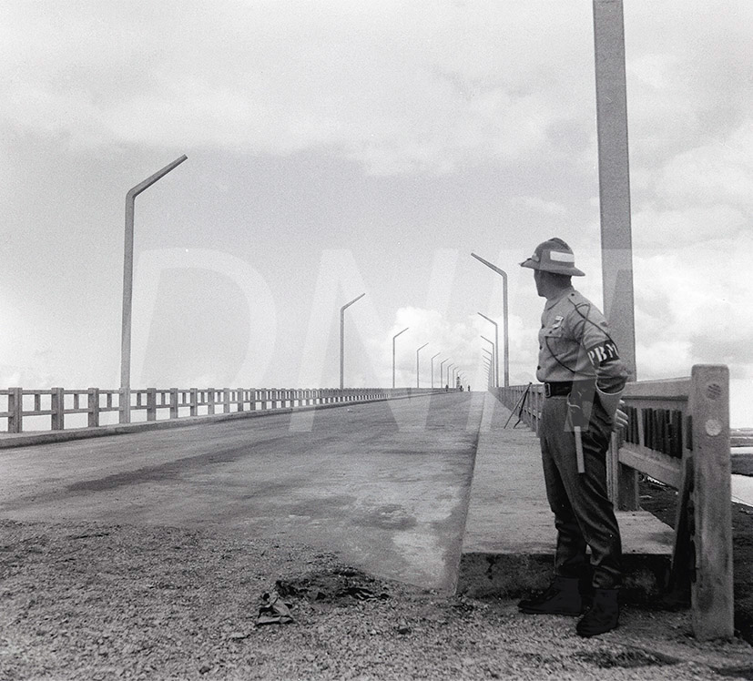
M699 364L691 372L696 580L693 631L699 640L734 635L729 371Z

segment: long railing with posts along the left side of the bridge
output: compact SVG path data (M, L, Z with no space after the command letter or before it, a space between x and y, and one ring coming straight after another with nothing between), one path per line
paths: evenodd
M158 418L230 412L259 412L316 404L389 400L394 397L435 392L431 388L147 388L131 391L131 412L146 412L147 421ZM86 414L86 427L102 425L102 414L120 411L118 390L0 390L0 432L24 432L24 419L48 416L50 429L62 431L66 416ZM5 401L5 404L3 404ZM5 425L5 429L2 427Z

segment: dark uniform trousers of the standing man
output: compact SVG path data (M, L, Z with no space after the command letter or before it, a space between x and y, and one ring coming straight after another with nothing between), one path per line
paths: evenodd
M555 574L583 579L591 548L592 584L612 589L622 581L622 544L615 511L606 493L606 450L612 422L598 399L583 429L585 473L578 473L575 432L567 421L567 398L544 400L540 424L546 496L555 513Z

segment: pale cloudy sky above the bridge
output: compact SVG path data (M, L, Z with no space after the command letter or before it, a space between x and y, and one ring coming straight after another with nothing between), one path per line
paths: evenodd
M728 364L753 426L753 3L626 0L638 377ZM601 304L588 0L3 0L0 384L119 384L128 188L134 387L481 388L510 374L560 236ZM746 397L748 396L748 397Z

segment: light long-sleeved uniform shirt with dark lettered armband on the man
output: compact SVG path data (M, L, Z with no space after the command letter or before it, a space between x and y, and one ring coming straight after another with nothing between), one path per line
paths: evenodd
M539 331L536 379L542 382L596 379L605 392L621 391L627 369L604 315L572 286L546 300Z

